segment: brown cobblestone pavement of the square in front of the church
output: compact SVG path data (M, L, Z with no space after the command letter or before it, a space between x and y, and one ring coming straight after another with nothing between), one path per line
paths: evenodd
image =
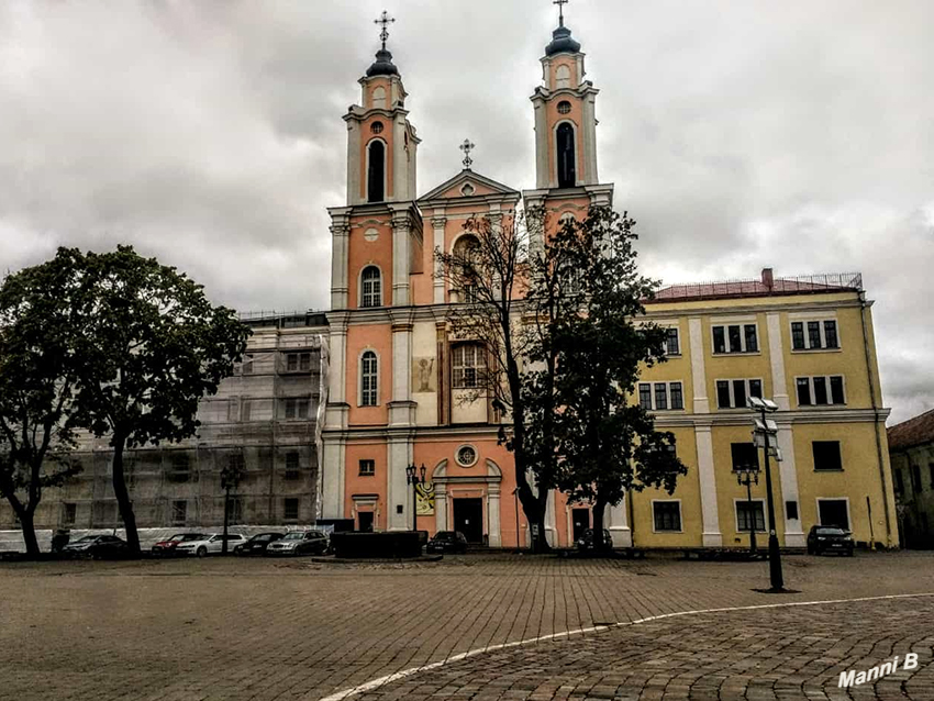
M405 566L5 564L0 699L315 701L594 624L934 592L934 554L788 557L785 570L799 593L754 591L767 586L766 563L471 555ZM920 655L910 679L893 675L853 697L934 698L932 614L934 597L678 616L483 653L356 698L823 698L816 691L838 666L868 668L903 652Z

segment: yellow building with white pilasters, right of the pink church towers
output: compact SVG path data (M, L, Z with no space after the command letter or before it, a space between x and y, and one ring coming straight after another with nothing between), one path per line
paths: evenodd
M668 327L668 361L643 372L640 401L677 436L689 472L672 496L635 493L622 539L637 546L733 546L767 531L765 479L746 500L735 469L764 467L749 396L779 411L772 459L776 530L803 546L815 524L898 545L891 469L872 336L858 275L675 286L647 304Z

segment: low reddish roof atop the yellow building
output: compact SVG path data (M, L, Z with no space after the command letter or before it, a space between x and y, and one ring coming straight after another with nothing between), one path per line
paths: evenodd
M858 272L835 272L776 278L771 268L763 270L761 278L670 285L655 293L654 302L682 300L729 299L743 297L770 297L775 294L818 294L821 292L859 291L863 276Z

